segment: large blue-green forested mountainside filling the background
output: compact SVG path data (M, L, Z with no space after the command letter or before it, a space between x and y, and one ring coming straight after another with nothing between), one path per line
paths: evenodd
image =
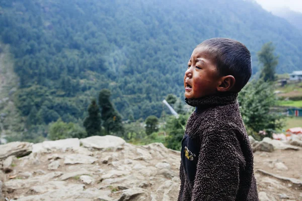
M256 52L272 41L277 71L301 69L302 34L286 20L243 0L0 1L0 35L20 77L15 104L27 128L87 116L109 88L123 119L160 116L168 93L183 94L193 48L229 37Z

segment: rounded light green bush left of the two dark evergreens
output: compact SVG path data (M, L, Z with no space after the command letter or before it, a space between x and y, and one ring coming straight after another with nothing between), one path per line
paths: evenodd
M87 133L84 128L78 124L65 123L58 119L55 123L49 125L49 132L47 135L49 140L60 140L65 138L85 138Z

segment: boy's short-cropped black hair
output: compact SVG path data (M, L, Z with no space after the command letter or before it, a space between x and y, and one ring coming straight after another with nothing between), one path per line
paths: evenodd
M252 75L252 58L248 48L233 39L212 38L203 41L197 47L203 46L213 56L216 68L221 76L235 77L235 90L239 92Z

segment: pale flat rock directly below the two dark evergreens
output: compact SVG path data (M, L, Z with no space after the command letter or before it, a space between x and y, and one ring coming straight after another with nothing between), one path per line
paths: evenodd
M106 136L91 136L88 138L81 139L80 142L83 147L93 149L115 149L118 146L125 144L125 140L120 137L106 135Z

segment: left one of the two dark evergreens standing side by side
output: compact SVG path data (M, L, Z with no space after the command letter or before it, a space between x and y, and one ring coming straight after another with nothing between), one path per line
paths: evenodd
M88 136L99 135L101 131L100 110L95 99L88 107L88 117L84 120L84 127Z

